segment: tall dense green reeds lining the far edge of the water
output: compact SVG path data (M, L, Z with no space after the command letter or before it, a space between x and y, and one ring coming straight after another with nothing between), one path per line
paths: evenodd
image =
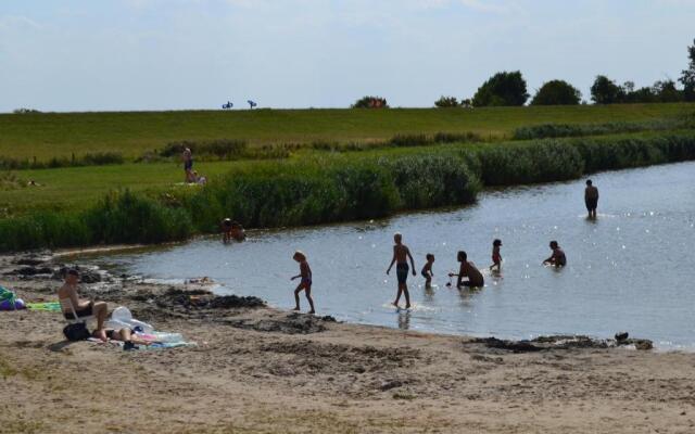
M256 228L378 218L406 209L469 204L482 186L559 181L688 159L695 159L692 131L392 148L249 162L203 189L172 190L161 196L124 191L80 213L0 219L0 250L182 240L217 231L224 217Z

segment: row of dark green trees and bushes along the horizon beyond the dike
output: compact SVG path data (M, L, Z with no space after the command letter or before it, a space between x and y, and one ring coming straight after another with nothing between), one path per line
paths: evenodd
M695 102L695 40L687 47L688 65L681 72L678 84L672 79L658 80L652 86L636 88L633 81L622 85L598 75L591 87L594 104ZM500 72L490 77L476 91L472 99L458 100L442 95L434 102L437 107L485 107L525 105L531 95L520 71ZM560 79L543 84L530 101L531 105L578 105L582 93L574 86ZM352 105L353 108L388 108L381 97L364 97Z

